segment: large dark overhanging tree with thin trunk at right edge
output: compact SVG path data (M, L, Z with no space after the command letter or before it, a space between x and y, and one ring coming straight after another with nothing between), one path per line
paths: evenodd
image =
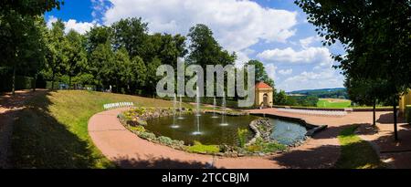
M410 42L409 1L297 0L324 45L340 41L346 56L334 56L347 78L387 81L387 98L393 103L395 140L396 105L399 95L411 87L407 62ZM369 93L374 94L374 93Z

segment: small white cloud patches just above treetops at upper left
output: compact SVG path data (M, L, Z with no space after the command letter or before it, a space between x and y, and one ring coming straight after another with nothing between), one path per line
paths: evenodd
M47 20L47 27L51 28L52 24L57 22L58 18L56 18L55 16L49 16L48 20ZM77 20L75 19L69 19L68 21L63 22L64 26L66 26L64 32L68 33L68 31L70 31L71 29L79 32L79 34L85 34L87 31L90 31L90 28L97 25L99 26L99 24L97 24L96 22L77 22Z

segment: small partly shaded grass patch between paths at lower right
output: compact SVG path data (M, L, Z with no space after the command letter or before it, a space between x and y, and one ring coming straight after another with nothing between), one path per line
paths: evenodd
M342 130L338 136L342 146L342 152L339 161L336 163L338 169L377 169L385 168L385 164L380 161L373 147L361 140L354 134L358 126Z

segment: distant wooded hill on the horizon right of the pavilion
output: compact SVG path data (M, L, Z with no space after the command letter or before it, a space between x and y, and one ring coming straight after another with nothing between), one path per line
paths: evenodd
M302 89L287 92L290 96L316 96L320 99L348 99L346 88Z

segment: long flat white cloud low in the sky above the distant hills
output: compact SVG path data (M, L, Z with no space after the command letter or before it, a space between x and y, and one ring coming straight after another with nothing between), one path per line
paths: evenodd
M258 58L268 62L288 64L317 64L325 67L332 64L330 50L326 47L308 47L296 51L291 47L284 49L275 48L265 50L257 55Z

